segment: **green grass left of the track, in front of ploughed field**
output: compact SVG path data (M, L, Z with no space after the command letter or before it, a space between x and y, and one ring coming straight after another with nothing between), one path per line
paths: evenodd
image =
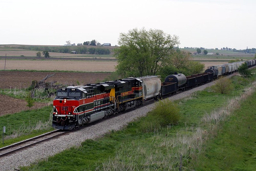
M0 128L5 126L6 133L4 145L1 143L0 147L53 130L49 121L51 111L52 106L48 106L1 116Z

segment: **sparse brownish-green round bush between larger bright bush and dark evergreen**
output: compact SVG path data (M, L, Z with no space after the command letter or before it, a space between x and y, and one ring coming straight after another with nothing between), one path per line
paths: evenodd
M215 90L215 92L219 92L221 94L226 94L228 93L230 90L232 90L232 81L230 79L228 79L227 77L220 77L220 79L218 79L213 87L213 89Z

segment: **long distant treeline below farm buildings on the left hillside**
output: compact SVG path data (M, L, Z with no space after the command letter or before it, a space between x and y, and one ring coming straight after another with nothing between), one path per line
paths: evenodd
M77 54L92 54L92 55L109 55L110 50L103 47L90 47L86 46L63 46L63 47L49 47L49 46L20 46L15 49L26 49L32 51L48 51L57 53L71 53L76 51Z

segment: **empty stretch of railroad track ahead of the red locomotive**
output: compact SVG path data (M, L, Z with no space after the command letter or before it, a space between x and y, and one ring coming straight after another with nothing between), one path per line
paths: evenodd
M40 136L36 136L36 137L30 138L30 139L21 141L19 143L15 143L15 144L8 145L6 147L0 148L0 158L4 157L6 155L10 155L14 152L18 152L20 150L26 149L26 148L31 147L33 145L42 143L44 141L48 141L52 138L57 138L58 136L67 134L71 131L72 130L63 132L61 130L54 130L54 131L42 134Z

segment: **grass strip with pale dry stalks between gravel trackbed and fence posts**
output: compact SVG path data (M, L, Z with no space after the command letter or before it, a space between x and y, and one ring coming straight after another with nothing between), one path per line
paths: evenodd
M212 88L207 88L176 101L181 116L178 125L154 129L154 125L150 124L152 120L149 117L143 117L129 123L123 130L111 131L97 140L86 140L80 147L65 150L47 161L31 167L23 167L22 170L177 170L180 154L183 155L183 165L191 167L189 164L194 162L193 156L199 155L203 152L204 146L208 147L208 142L215 140L215 137L210 134L206 137L211 140L203 141L204 130L208 134L212 124L214 125L215 118L219 116L222 121L217 122L217 126L213 129L218 128L219 134L222 134L222 125L225 128L225 125L230 124L230 119L226 112L220 113L220 111L226 110L230 99L239 97L243 90L250 86L249 82L254 80L254 78L248 80L234 76L232 78L234 89L227 95L215 93ZM255 101L255 95L251 98ZM240 102L242 106L250 103L242 100ZM233 103L232 100L231 103ZM230 106L227 112L230 114L229 110ZM231 119L232 117L239 118L235 113L232 113ZM247 120L240 119L240 121ZM147 130L151 131L145 131L146 124L151 127ZM250 127L255 127L255 122L250 122ZM250 134L247 135L250 136ZM199 137L201 150L197 147L197 137ZM189 146L191 146L190 158L188 157ZM232 150L236 151L236 149ZM243 152L248 153L246 150ZM250 154L254 155L253 152ZM209 152L208 155L212 153ZM205 168L210 167L208 164Z

